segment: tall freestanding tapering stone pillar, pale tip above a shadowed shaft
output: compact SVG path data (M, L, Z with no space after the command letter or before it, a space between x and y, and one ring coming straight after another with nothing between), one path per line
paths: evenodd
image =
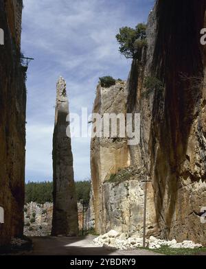
M66 82L60 77L56 86L56 115L53 137L54 211L52 235L78 235L78 209L73 179L71 139L66 130L69 122Z

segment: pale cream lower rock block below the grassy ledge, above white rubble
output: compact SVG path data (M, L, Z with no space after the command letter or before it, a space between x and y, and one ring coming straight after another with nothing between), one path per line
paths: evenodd
M130 178L122 183L102 185L102 233L115 229L129 235L143 235L145 184ZM147 236L155 235L157 220L151 183L148 183L146 213Z

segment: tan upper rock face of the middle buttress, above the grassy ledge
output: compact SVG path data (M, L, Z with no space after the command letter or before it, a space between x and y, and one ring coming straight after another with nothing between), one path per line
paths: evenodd
M105 113L123 113L126 115L126 83L116 82L115 85L104 88L98 84L93 113L101 118ZM96 122L96 121L95 121ZM93 129L95 129L95 122ZM104 231L102 220L102 184L109 180L119 168L130 165L127 141L117 135L113 137L94 137L91 139L91 179L93 185L93 202L95 211L95 229L98 233Z

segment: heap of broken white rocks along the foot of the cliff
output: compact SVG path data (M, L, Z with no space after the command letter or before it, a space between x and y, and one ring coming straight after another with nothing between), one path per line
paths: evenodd
M141 248L143 246L143 238L142 237L129 237L125 233L119 233L117 231L111 230L104 235L100 235L99 237L93 240L93 244L96 246L109 246L111 248L117 248L119 250L133 249L133 248ZM168 246L169 248L202 248L201 244L194 244L192 241L183 241L182 243L177 243L176 239L172 239L171 241L165 241L162 239L157 239L154 236L150 236L149 239L146 239L146 247L150 249L158 249L162 246Z

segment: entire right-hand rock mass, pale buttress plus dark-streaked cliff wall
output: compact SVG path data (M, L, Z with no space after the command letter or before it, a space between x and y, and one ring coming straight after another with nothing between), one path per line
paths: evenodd
M147 25L147 47L133 60L124 95L98 86L93 112L140 113L139 145L110 138L91 141L95 229L190 239L205 245L206 1L157 1ZM146 88L145 80L155 84ZM109 102L106 93L109 92ZM116 111L115 100L118 100Z

